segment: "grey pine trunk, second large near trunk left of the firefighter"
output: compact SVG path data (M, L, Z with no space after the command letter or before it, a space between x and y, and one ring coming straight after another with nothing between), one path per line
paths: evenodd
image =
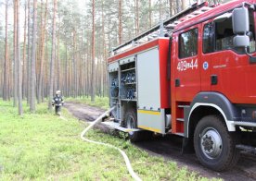
M35 112L35 55L36 55L36 30L37 30L37 0L33 0L33 16L32 16L32 66L31 66L31 99L30 110Z

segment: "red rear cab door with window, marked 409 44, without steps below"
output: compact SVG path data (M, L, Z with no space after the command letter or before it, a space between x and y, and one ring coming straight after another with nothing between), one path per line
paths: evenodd
M173 64L176 102L191 102L200 91L199 26L189 27L176 35Z

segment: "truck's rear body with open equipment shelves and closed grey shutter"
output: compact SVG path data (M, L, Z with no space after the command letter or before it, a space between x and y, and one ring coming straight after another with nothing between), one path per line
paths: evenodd
M134 128L161 134L170 130L168 44L168 38L158 38L109 60L116 70L109 71L110 106L117 105L112 115L120 127L129 128L127 115L132 113Z

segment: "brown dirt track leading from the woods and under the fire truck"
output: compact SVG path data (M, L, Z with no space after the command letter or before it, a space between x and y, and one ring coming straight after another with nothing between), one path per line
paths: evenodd
M83 121L93 121L98 115L105 110L89 106L84 101L69 102L65 107L72 115ZM106 107L106 106L105 106ZM97 128L106 131L106 127L98 125ZM168 135L167 137L155 137L152 140L134 144L135 147L142 151L147 151L149 155L157 156L165 161L177 163L181 168L186 167L189 171L196 172L208 178L222 178L224 180L255 180L256 179L256 156L242 154L237 166L227 172L218 173L203 167L195 153L181 154L182 139L176 136Z

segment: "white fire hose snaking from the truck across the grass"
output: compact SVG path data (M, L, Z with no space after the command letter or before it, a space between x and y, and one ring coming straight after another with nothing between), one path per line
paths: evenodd
M132 175L132 177L134 178L134 180L136 181L141 181L140 177L138 175L136 175L136 173L134 173L134 169L129 161L129 158L128 156L126 155L126 153L124 151L122 151L121 149L113 146L113 145L110 145L109 143L103 143L103 142L98 142L98 141L95 141L95 140L90 140L90 139L85 139L85 134L86 132L89 131L89 129L91 129L92 127L94 127L97 123L101 122L102 121L102 118L106 115L108 115L111 111L113 111L116 107L112 107L111 109L109 109L109 111L106 111L104 114L100 115L98 118L96 118L96 120L90 124L88 127L86 127L83 132L81 133L81 139L83 139L84 141L87 141L87 142L91 142L91 143L95 143L95 144L99 144L99 145L105 145L109 148L112 148L114 150L117 150L117 151L120 151L121 154L122 154L122 157L124 159L124 162L126 163L126 167L128 169L128 172L130 175Z

